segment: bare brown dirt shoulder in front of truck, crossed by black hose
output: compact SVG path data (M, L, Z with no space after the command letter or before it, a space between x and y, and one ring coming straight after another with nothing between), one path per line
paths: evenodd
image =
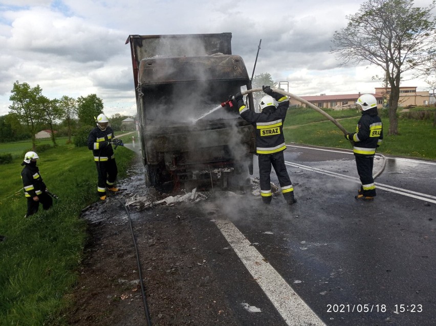
M141 168L137 165L122 181L129 187L124 195L96 203L83 214L89 223L89 242L72 294L69 324L147 324L129 218L118 200L124 201L128 192L146 191ZM210 253L199 239L213 223L200 220L185 203L132 212L130 219L153 325L237 324L205 260Z

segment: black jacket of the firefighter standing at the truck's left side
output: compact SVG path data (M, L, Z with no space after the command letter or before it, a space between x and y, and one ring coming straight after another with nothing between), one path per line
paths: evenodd
M114 149L108 143L114 137L114 130L111 127L106 127L106 130L95 127L91 130L88 136L88 148L92 150L96 162L114 158Z

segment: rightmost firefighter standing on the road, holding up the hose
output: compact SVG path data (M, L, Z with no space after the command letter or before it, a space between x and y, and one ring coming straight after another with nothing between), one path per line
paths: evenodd
M353 143L357 173L362 183L354 198L371 201L376 196L373 178L374 155L383 139L383 128L377 111L377 100L371 94L363 94L356 104L362 111L356 132L347 133L345 138Z

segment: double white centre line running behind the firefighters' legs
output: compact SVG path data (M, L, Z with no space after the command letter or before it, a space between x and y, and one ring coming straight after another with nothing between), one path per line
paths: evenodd
M309 170L309 171L313 171L316 173L329 175L329 176L332 176L335 178L350 180L350 181L353 181L356 183L360 183L360 179L356 178L356 177L352 177L352 176L348 176L348 175L344 175L344 174L340 174L340 173L336 173L336 172L331 172L331 171L327 171L327 170L322 170L322 169L318 169L318 168L313 168L313 167L309 167L306 165L301 165L301 164L297 164L297 163L293 163L293 162L289 162L289 161L285 161L285 164L288 166L294 167L294 168ZM436 196L427 195L427 194L423 194L423 193L419 193L416 191L407 190L407 189L403 189L403 188L398 188L398 187L394 187L392 185L388 185L388 184L384 184L384 183L379 183L379 182L375 182L375 183L376 183L378 189L382 189L382 190L385 190L385 191L388 191L391 193L395 193L395 194L399 194L399 195L403 195L403 196L408 196L408 197L412 197L412 198L416 198L416 199L420 199L420 200L424 200L424 201L436 204Z

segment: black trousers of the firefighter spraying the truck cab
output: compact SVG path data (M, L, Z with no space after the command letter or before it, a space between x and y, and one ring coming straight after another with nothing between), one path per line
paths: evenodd
M265 203L270 203L271 193L271 166L277 175L280 183L281 193L285 200L289 202L294 197L294 188L288 175L285 165L285 156L283 151L272 154L259 154L259 177L260 177L260 195Z

